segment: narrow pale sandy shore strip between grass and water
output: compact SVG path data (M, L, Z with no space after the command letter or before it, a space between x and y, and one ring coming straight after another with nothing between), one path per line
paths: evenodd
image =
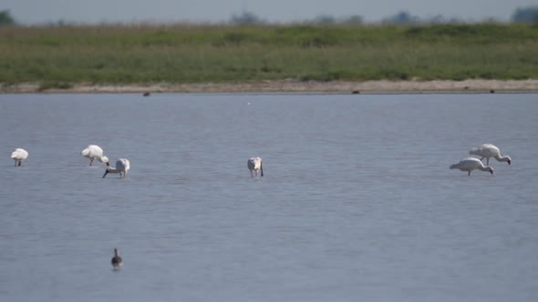
M420 94L420 93L537 93L538 79L464 81L264 81L261 83L158 84L127 86L75 85L42 90L38 84L0 86L3 94L53 93L315 93L315 94Z

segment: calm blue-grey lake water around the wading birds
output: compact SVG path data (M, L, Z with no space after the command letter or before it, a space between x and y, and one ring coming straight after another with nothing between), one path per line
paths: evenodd
M537 116L533 94L0 95L1 300L538 301ZM482 143L512 166L449 169Z

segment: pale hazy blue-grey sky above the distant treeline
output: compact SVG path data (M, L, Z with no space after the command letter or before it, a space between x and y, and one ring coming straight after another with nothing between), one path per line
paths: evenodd
M0 0L19 23L31 25L64 20L100 22L224 22L249 11L269 22L313 19L318 15L361 15L375 22L409 12L420 18L435 15L481 21L508 21L518 7L536 0Z

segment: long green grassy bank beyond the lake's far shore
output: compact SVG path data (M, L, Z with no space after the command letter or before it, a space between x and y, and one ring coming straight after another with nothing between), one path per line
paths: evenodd
M0 82L47 87L538 78L532 25L0 28Z

